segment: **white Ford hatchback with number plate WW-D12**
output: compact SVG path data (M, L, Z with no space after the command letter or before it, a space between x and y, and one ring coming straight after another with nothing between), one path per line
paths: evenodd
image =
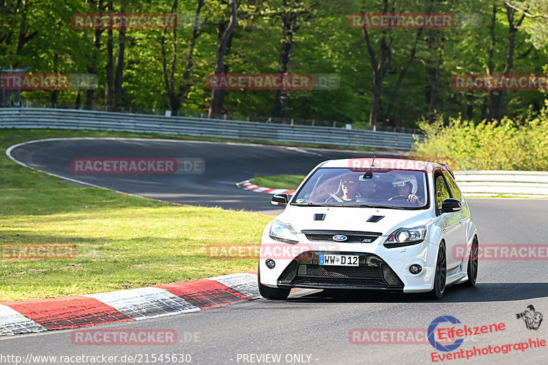
M360 158L316 166L262 234L262 297L291 288L427 292L474 286L477 230L447 164Z

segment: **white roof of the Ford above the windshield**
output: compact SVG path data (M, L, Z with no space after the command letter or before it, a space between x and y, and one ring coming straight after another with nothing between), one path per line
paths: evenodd
M423 160L411 160L405 158L345 158L340 160L327 160L319 165L319 167L325 168L349 168L350 170L356 169L360 171L363 168L394 168L401 170L415 170L415 171L432 171L434 168L439 167L444 171L448 168L444 164L438 162L430 162Z

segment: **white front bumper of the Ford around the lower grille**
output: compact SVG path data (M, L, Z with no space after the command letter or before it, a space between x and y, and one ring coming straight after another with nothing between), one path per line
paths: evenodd
M272 288L377 289L428 292L433 288L438 245L428 241L388 249L380 236L375 242L317 242L299 236L298 244L275 242L265 230L259 260L261 284ZM273 247L279 249L273 250ZM263 249L264 248L264 249ZM292 254L288 255L288 249ZM276 255L276 252L285 254ZM321 253L358 255L359 266L320 265ZM266 260L275 262L274 268ZM419 264L419 274L409 267Z

